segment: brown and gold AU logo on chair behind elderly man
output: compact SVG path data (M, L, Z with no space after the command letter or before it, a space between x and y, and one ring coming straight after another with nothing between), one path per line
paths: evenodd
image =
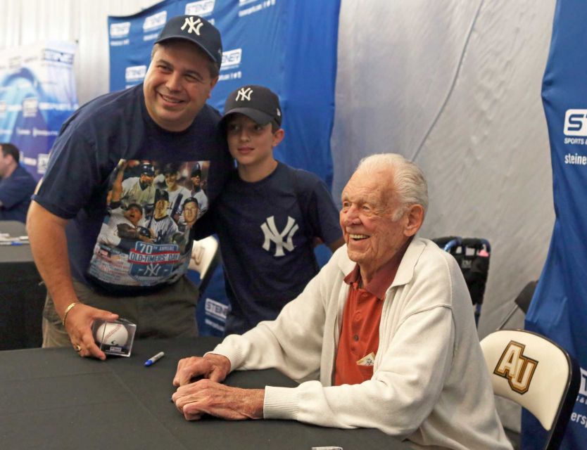
M495 370L493 370L496 375L507 378L512 390L515 390L518 394L528 392L532 376L536 366L538 366L536 359L524 356L525 348L524 344L510 340Z

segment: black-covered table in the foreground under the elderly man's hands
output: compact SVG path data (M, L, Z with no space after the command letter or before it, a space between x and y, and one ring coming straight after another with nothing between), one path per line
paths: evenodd
M72 349L0 352L0 442L6 449L344 450L407 449L379 430L339 430L291 420L188 422L170 397L177 361L217 338L141 340L130 358L82 359ZM146 368L157 352L165 356ZM294 386L277 371L234 372L239 387Z

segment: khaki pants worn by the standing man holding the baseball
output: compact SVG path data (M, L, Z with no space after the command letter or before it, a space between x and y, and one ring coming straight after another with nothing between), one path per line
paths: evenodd
M198 289L183 276L176 283L149 295L110 297L78 281L73 288L80 302L118 314L137 325L135 339L196 337ZM68 333L61 325L49 293L43 311L43 347L69 347Z

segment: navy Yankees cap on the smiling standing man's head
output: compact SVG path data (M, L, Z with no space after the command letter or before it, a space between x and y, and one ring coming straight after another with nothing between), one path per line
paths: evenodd
M169 39L193 42L216 63L222 65L222 39L220 32L208 20L199 15L176 15L170 18L159 33L155 44Z

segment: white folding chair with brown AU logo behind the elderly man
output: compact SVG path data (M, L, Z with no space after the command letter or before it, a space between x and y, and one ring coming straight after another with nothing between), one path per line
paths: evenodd
M558 449L573 411L581 373L569 354L544 336L497 330L481 340L493 392L530 411L547 430L545 450Z

